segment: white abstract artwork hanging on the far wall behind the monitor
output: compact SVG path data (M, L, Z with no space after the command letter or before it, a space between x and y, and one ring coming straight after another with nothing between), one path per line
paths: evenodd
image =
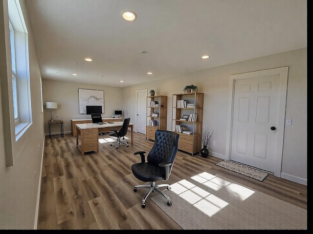
M104 113L104 92L103 90L78 89L79 114L86 114L86 105L102 106Z

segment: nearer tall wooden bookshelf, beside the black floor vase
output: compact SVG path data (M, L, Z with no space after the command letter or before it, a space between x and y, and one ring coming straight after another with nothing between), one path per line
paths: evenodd
M203 93L197 92L173 94L172 131L180 135L179 150L192 156L201 150L203 97ZM182 119L184 116L188 116L187 119ZM180 129L177 126L180 126ZM190 134L181 132L184 127Z

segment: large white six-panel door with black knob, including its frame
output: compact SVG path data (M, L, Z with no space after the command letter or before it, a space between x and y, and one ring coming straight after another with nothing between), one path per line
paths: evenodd
M234 75L230 159L280 177L288 67L277 69Z

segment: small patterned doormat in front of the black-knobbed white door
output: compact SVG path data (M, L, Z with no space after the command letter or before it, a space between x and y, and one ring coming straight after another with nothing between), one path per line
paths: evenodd
M232 161L223 160L215 163L215 165L260 181L268 176L268 173Z

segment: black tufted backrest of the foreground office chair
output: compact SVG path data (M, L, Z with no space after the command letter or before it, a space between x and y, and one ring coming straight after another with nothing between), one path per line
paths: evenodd
M158 165L161 162L171 162L171 170L178 151L179 134L167 130L156 130L155 143L147 156L147 161Z

